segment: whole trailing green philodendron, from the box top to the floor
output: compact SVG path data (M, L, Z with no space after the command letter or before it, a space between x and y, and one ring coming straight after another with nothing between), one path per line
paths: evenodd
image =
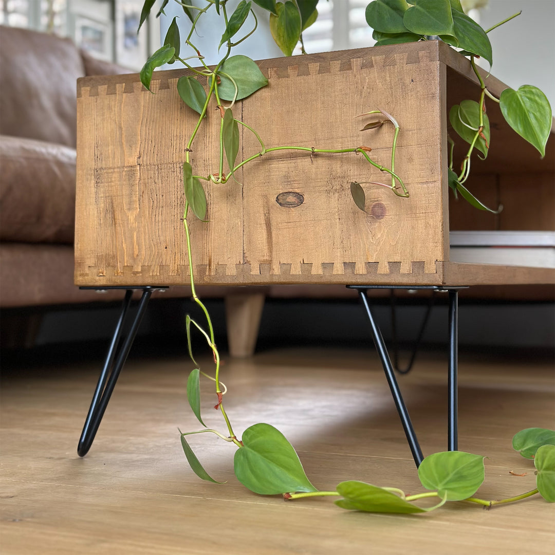
M283 495L286 499L297 499L310 496L341 497L336 504L347 509L370 512L428 512L447 501L467 499L487 507L497 503L506 503L539 493L547 501L555 501L555 432L531 428L519 432L513 441L517 450L524 456L534 457L537 468L537 488L522 495L503 499L502 501L485 501L475 495L484 479L483 456L458 451L435 453L426 457L418 468L418 476L422 486L429 490L425 493L406 496L395 487L377 487L357 481L341 482L334 491L319 491L306 477L299 457L286 438L273 426L258 423L247 428L243 436L238 438L231 426L223 403L226 393L225 385L220 381L220 355L215 344L214 329L210 315L203 302L196 295L191 255L191 236L188 224L190 212L196 218L206 218L206 195L202 183L223 184L235 179L235 172L252 160L264 157L277 150L299 150L306 155L357 154L388 175L390 183L371 182L372 185L385 186L393 194L408 199L409 191L401 176L395 172L395 154L397 138L402 133L395 114L373 107L361 117L372 120L364 125L363 130L377 132L384 124L392 124L395 128L391 148L390 167L376 163L370 157L371 148L359 145L339 145L334 149L319 149L314 145L281 145L266 148L263 138L251 126L252 122L236 119L233 113L234 104L255 94L257 90L268 85L268 79L261 73L258 65L246 56L231 56L234 46L243 42L256 31L258 20L252 4L258 4L269 13L270 30L275 42L281 50L290 56L297 46L301 45L302 32L316 21L318 0L241 0L234 3L234 10L228 14L228 0L195 0L180 2L191 26L187 36L182 39L176 18L171 22L164 40L164 46L155 52L145 63L140 78L144 86L150 90L150 82L155 68L166 63L182 63L189 69L188 74L179 78L177 89L183 102L198 113L198 122L193 129L185 148L183 162L183 186L185 190L185 210L183 214L184 231L188 248L189 270L193 299L200 306L206 318L206 329L198 322L186 317L186 334L191 360L195 369L191 371L187 383L189 404L203 426L201 430L180 432L181 445L193 471L203 480L217 482L212 478L196 458L186 438L196 433L213 433L221 439L234 443L237 447L234 458L235 475L238 480L251 491L261 495ZM163 0L157 17L164 13L169 0ZM140 18L140 25L149 17L155 0L145 0ZM202 3L202 6L195 5ZM229 2L231 3L231 2ZM195 28L201 17L209 10L215 11L224 20L225 31L216 37L219 49L223 49L223 57L214 66L205 64L199 49L193 43ZM514 17L514 16L512 16ZM507 18L509 21L512 17ZM375 0L366 8L366 21L374 29L377 44L393 44L411 41L427 41L439 38L456 48L462 48L462 55L470 57L481 93L478 100L464 100L450 110L450 122L453 131L465 140L469 147L462 160L460 173L453 169L453 143L449 162L449 186L471 204L482 210L489 210L477 200L463 185L470 173L473 150L478 150L485 158L490 146L490 126L486 113L486 97L501 105L501 112L508 124L524 139L532 143L543 155L549 130L551 129L551 107L545 95L531 85L524 85L518 90L506 89L500 98L495 98L488 91L481 74L475 64L475 58L485 58L492 63L492 49L488 39L488 31L484 31L471 18L466 16L460 0ZM504 23L504 22L502 22ZM140 26L139 26L140 27ZM497 27L497 26L496 26ZM243 29L248 31L243 31ZM185 56L183 50L190 49ZM193 61L194 60L194 61ZM200 67L193 67L193 64ZM200 79L200 80L199 80ZM201 81L205 85L201 84ZM229 104L224 104L227 102ZM195 173L190 160L190 153L196 135L203 124L210 104L215 105L220 118L219 144L220 157L218 168L209 175ZM239 154L239 125L253 133L260 143L259 152L245 160L237 160ZM225 169L224 158L228 169ZM360 183L367 183L353 176L350 184L352 198L361 210L364 210L365 196ZM180 184L179 184L180 185ZM410 200L407 200L409 202ZM493 211L493 210L492 210ZM213 375L200 369L195 362L191 350L191 327L200 331L213 352L215 369ZM204 425L200 413L200 376L212 380L215 384L217 402L214 408L220 410L227 431L209 429ZM438 504L432 508L422 508L414 501L423 497L437 497Z

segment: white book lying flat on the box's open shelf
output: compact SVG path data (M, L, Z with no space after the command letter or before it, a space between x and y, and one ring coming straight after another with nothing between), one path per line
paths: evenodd
M451 231L450 260L555 269L555 231Z

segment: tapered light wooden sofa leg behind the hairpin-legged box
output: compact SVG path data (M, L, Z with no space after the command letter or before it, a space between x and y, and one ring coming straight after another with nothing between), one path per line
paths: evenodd
M229 354L253 356L265 295L261 292L233 293L225 297Z

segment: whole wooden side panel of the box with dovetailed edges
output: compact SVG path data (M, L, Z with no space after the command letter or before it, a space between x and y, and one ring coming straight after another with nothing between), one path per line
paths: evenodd
M196 282L439 282L436 261L446 259L447 245L437 48L418 43L300 60L261 62L270 84L236 103L235 117L252 125L267 148L366 145L372 159L390 166L391 126L361 132L372 118L355 118L384 109L401 125L395 169L411 196L363 184L363 213L350 182L390 180L360 154L265 154L237 172L239 183L202 181L210 221L190 217ZM189 280L181 166L196 118L179 99L175 74L155 73L154 95L128 78L80 88L79 285ZM242 126L240 133L238 159L259 152L254 135ZM194 174L218 171L218 135L219 115L210 112L193 145ZM276 201L289 193L302 203Z

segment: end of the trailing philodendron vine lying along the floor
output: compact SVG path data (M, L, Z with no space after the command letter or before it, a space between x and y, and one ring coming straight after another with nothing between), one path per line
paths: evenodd
M193 400L191 406L201 421L199 403ZM339 497L335 501L337 506L370 513L426 513L448 501L467 501L491 508L536 494L550 503L555 502L555 431L545 428L527 428L513 437L514 450L534 461L536 487L512 497L494 500L475 496L485 479L483 461L486 457L483 455L444 451L427 456L418 467L420 483L428 490L422 493L406 495L396 487L379 487L358 480L347 480L339 483L335 490L321 491L306 476L294 448L273 426L265 423L250 426L241 441L235 436L226 438L215 430L203 431L214 432L226 441L237 443L239 448L235 452L234 471L244 486L259 495L282 495L285 501ZM181 433L181 444L191 468L203 480L222 483L208 475L191 451L185 440L185 436L191 433L200 432ZM431 507L416 503L427 497L436 498L437 503Z

